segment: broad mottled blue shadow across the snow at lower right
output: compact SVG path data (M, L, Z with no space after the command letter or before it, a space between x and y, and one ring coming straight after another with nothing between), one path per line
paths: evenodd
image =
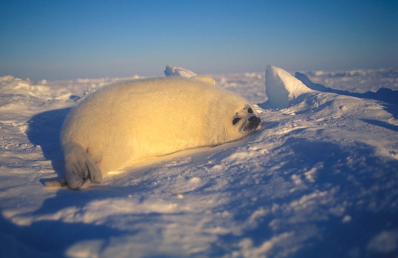
M260 165L263 172L254 175L258 183L247 182L250 173L239 173L231 176L230 206L223 210L233 211L235 219L242 224L258 207L272 210L265 215L259 224L243 234L250 238L254 247L260 247L264 241L285 233L295 232L300 238L316 229L316 234L305 241L275 245L267 253L269 257L278 257L292 246L298 245L298 251L288 257L292 258L332 258L350 257L350 252L358 252L358 257L396 257L397 249L389 253L373 253L367 250L370 240L384 230L396 230L397 206L396 191L398 161L384 159L375 155L372 146L362 143L340 145L329 141L311 141L301 137L289 138L282 147L270 150L281 159L270 160ZM322 164L322 166L319 166ZM278 169L275 169L278 168ZM306 182L309 187L297 188L295 191L280 191L278 184L292 182L292 175L298 175L306 181L305 172L317 168L313 182ZM275 180L278 178L278 180ZM276 185L273 182L277 182ZM242 185L242 186L240 186ZM240 188L243 187L243 188ZM292 187L292 186L290 186ZM284 188L284 187L282 187ZM303 201L301 211L294 212L289 205L314 191L328 193L329 202L320 202L322 198ZM246 197L246 198L242 198ZM254 201L250 196L257 196ZM248 202L252 204L248 205ZM311 203L313 206L311 207ZM278 205L276 205L278 204ZM344 207L344 214L350 215L349 222L342 222L342 215L333 215L331 210ZM306 210L308 209L308 210ZM326 216L325 216L326 215ZM295 221L296 220L296 221ZM272 225L277 222L278 227ZM222 256L224 246L239 243L242 236L226 234L219 236L214 244L214 255Z

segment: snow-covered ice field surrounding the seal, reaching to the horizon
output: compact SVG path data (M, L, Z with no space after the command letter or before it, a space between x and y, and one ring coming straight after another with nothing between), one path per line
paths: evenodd
M398 256L397 69L211 77L257 104L262 129L84 191L44 186L62 176L63 119L139 77L0 77L0 257Z

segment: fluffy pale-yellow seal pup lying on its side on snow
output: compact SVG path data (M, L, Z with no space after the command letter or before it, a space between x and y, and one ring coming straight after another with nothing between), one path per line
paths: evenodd
M100 183L103 173L136 161L236 141L260 122L247 100L215 86L208 77L103 87L64 121L66 184L84 189Z

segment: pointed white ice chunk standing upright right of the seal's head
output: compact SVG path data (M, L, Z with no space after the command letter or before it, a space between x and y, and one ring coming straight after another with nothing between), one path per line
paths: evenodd
M285 70L272 65L267 66L265 85L272 108L287 108L299 95L315 92Z

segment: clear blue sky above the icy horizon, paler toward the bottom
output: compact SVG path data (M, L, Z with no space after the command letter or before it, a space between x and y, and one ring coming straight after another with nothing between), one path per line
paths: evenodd
M0 3L0 76L388 68L397 53L397 0Z

